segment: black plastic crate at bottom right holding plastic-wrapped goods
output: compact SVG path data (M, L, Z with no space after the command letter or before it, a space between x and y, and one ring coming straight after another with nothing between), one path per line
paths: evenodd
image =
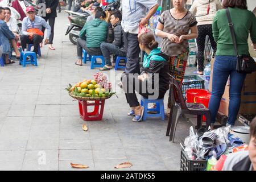
M190 160L181 147L180 154L180 171L205 171L207 160Z

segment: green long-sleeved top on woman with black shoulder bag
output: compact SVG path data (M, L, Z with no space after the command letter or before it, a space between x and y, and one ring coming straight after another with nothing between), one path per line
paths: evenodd
M255 15L249 10L243 10L237 7L229 8L229 11L234 24L238 55L248 54L249 47L247 40L249 32L252 42L256 43ZM225 9L217 11L213 19L212 29L214 40L217 43L216 55L236 56Z

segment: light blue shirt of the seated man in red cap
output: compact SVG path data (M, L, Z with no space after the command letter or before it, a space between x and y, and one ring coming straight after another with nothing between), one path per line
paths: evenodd
M42 30L42 27L45 27L47 29L47 35L46 38L49 39L49 36L51 35L51 27L46 22L45 19L41 18L40 16L35 16L34 22L31 22L30 18L26 17L22 20L22 34L27 35L27 30L30 28L38 28L39 30Z

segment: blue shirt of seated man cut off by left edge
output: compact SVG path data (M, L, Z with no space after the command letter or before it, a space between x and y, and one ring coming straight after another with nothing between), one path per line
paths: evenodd
M14 39L15 36L13 32L10 31L9 27L5 23L5 21L0 20L0 42L2 43L3 52L2 53L9 53L10 52L10 39Z

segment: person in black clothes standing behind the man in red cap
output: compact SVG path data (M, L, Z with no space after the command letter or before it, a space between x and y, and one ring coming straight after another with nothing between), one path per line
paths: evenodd
M53 43L53 36L54 36L54 23L55 23L55 18L57 17L57 6L59 4L59 0L38 0L37 4L39 3L45 3L46 4L46 16L43 16L47 22L49 21L49 26L51 26L51 36L49 37L49 49L55 50L54 47L52 47ZM42 31L44 32L46 28L42 28Z

